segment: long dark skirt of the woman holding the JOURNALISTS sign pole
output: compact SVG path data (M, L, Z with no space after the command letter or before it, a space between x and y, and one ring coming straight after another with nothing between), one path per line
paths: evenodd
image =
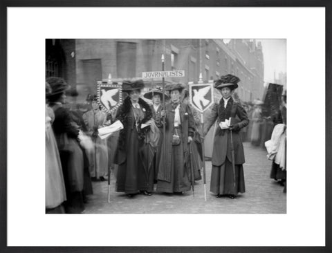
M181 156L183 156L182 143L172 146L171 182L158 180L157 191L167 193L190 191L190 176Z

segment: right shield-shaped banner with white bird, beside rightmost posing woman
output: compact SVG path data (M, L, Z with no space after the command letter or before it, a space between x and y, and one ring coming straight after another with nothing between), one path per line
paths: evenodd
M214 103L213 82L194 84L189 83L189 100L194 109L203 113Z

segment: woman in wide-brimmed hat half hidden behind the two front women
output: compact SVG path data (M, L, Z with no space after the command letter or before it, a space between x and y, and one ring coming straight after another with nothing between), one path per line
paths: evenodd
M144 94L144 97L148 100L152 100L150 106L152 111L152 118L154 118L154 123L158 127L158 144L155 151L153 167L154 167L154 182L157 181L158 176L158 165L160 161L161 143L163 142L163 118L161 117L161 111L163 111L163 90L160 87L153 88ZM167 94L164 94L165 100L169 100Z

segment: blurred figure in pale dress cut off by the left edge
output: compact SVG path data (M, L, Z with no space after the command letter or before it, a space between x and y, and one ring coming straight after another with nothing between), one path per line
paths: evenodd
M50 93L50 85L46 82L46 214L64 214L66 188L59 150L52 129L55 116L47 104Z

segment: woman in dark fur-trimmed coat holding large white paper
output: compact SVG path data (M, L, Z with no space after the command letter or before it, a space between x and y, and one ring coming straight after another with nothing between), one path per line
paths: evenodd
M144 88L142 80L122 82L122 91L128 93L123 104L117 111L116 120L120 120L123 129L118 138L118 147L114 163L118 165L116 191L124 192L129 197L141 192L151 196L154 189L154 171L145 167L145 138L149 127L152 111L149 104L140 98Z

